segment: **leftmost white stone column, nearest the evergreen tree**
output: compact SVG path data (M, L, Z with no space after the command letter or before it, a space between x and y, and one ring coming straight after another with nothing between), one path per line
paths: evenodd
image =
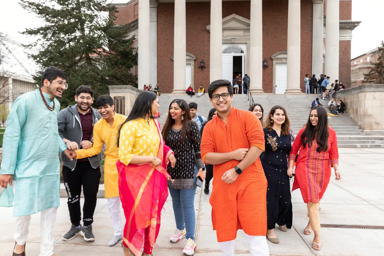
M138 31L138 88L143 90L144 84L150 83L150 30L149 30L149 0L139 1L139 31Z

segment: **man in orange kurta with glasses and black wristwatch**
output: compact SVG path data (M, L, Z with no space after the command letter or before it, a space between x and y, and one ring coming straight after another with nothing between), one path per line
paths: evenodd
M262 125L252 112L233 108L229 81L213 81L208 95L217 116L205 125L200 149L203 162L214 165L209 202L217 240L224 255L232 256L237 230L243 229L251 255L267 256L267 181L259 158L265 147Z

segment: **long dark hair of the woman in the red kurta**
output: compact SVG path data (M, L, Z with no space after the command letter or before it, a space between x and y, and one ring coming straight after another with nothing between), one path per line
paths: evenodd
M301 135L301 144L305 147L308 144L308 147L312 145L314 136L316 135L316 142L318 144L317 151L327 151L328 150L328 114L324 107L314 106L313 110L317 111L318 121L317 125L313 126L311 122L311 113L308 118L305 130Z

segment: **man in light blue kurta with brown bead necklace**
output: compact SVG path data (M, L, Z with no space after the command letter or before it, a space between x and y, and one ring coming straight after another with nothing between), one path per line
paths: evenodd
M71 157L57 126L60 103L56 98L68 86L66 78L64 71L47 68L42 88L18 97L8 115L0 169L0 186L5 189L0 206L14 206L16 254L23 255L30 215L41 211L40 255L53 255L53 231L60 205L59 151Z

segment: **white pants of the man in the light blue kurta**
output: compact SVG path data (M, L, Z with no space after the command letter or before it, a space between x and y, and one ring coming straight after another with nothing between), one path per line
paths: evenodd
M52 207L40 212L40 256L51 256L53 254L53 233L55 231L57 208ZM15 241L19 245L25 244L28 238L30 220L31 215L16 217Z

